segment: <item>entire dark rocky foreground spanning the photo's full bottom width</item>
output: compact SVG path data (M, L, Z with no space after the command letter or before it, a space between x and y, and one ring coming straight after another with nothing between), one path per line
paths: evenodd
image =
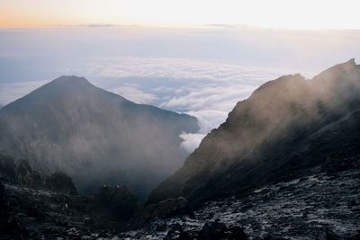
M358 169L277 182L195 211L184 198L165 200L132 218L123 187L89 198L71 184L55 188L58 176L47 188L29 185L29 173L16 178L27 184L2 177L0 239L360 239Z

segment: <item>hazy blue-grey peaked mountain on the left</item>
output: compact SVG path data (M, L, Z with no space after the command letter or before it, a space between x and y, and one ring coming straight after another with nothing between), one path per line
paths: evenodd
M198 129L191 116L61 76L0 110L0 151L65 172L80 191L111 183L144 197L184 162L179 135Z

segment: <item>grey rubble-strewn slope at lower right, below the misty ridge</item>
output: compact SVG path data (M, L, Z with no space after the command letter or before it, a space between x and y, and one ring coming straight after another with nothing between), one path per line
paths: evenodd
M316 173L121 233L128 239L360 239L360 171Z

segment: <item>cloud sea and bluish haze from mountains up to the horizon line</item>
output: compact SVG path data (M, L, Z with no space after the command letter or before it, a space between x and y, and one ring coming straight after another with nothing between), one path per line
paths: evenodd
M200 132L180 135L192 152L259 85L356 58L359 40L359 31L247 26L3 29L0 107L58 76L85 76L130 101L195 116Z

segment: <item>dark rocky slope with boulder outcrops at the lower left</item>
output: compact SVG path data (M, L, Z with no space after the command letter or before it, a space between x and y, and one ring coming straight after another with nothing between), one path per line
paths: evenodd
M115 236L138 209L126 187L77 195L65 173L43 175L0 155L0 239L97 239Z

